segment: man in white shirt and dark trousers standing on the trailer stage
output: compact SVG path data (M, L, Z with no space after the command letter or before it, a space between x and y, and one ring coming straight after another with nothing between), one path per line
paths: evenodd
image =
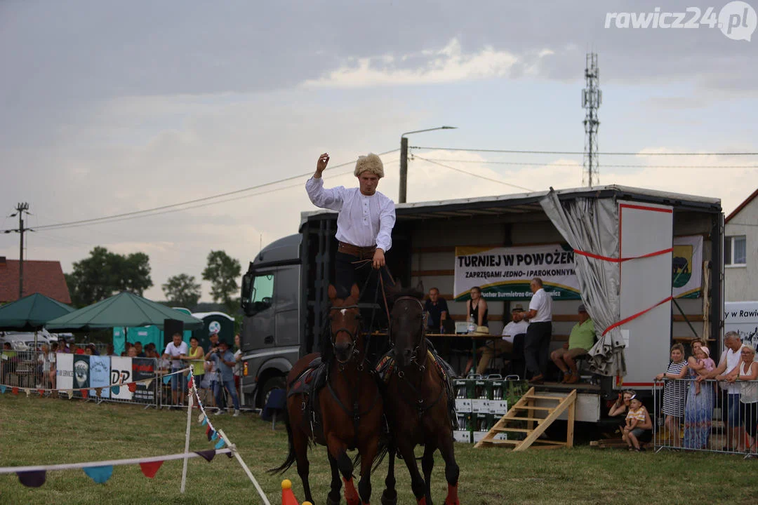
M542 279L534 277L529 283L533 293L529 310L523 320L529 322L524 344L526 371L531 374L529 382L539 384L545 379L550 337L553 335L553 298L542 286Z

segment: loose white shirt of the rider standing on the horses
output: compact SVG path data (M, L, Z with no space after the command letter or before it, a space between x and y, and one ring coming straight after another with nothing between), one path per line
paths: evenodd
M324 179L311 177L305 191L316 207L337 210L337 240L359 247L376 245L387 252L392 247L395 202L375 192L366 196L359 188L324 188Z

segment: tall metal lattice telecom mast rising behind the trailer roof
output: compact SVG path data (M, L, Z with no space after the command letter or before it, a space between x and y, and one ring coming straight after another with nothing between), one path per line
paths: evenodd
M584 116L584 167L581 183L592 187L593 182L600 182L600 164L597 160L597 129L600 120L597 119L597 109L603 103L603 92L600 91L600 67L597 66L597 53L587 53L587 64L584 67L586 87L581 92L581 106L587 113Z

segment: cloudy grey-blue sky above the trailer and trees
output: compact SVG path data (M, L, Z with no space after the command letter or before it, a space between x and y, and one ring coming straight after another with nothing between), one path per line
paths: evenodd
M6 217L17 201L29 202L32 227L130 213L309 173L324 151L330 165L349 163L441 125L458 129L411 145L582 151L590 49L603 90L600 151L639 153L601 156L600 183L721 198L729 212L756 189L758 157L650 153L758 151L758 36L604 26L609 12L662 3L709 7L0 2L0 229L17 225ZM581 155L412 153L409 201L520 191L506 183L581 185ZM380 185L394 199L398 159L384 156ZM339 175L349 170L325 173L327 185L354 184ZM211 249L245 267L260 243L296 232L300 211L313 208L305 179L188 210L40 229L27 235L27 257L69 272L96 245L144 251L155 283L146 295L163 299L168 276L199 278ZM17 234L0 234L0 255L18 257Z

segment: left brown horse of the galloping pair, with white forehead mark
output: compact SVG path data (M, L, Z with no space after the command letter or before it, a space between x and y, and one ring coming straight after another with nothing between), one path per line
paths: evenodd
M331 466L331 491L327 503L340 503L340 474L345 482L348 505L368 503L371 497L371 464L377 457L382 434L382 399L371 366L365 360L365 342L358 308L359 289L353 285L345 300L329 286L330 342L324 348L328 365L327 383L315 398L305 393L290 394L302 373L318 354L302 357L287 376L287 460L272 472L284 472L297 462L305 500L313 502L309 483L309 441L327 446ZM312 413L308 408L314 405ZM318 417L320 413L321 422ZM352 460L347 450L358 449L361 480L358 492L352 482ZM360 497L359 497L360 495Z

